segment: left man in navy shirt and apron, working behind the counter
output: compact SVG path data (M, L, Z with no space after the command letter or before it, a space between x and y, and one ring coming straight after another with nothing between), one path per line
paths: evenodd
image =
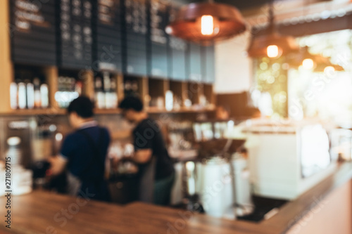
M50 160L51 172L61 174L66 169L70 195L108 201L104 171L110 134L94 121L93 108L86 97L70 103L68 117L75 131L63 141L60 155Z

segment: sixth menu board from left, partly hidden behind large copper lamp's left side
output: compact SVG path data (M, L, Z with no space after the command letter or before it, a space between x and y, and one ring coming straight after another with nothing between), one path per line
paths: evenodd
M175 19L178 8L171 6L169 8L169 20ZM169 56L168 56L168 75L171 79L185 80L187 79L186 72L186 52L187 42L177 38L169 37Z

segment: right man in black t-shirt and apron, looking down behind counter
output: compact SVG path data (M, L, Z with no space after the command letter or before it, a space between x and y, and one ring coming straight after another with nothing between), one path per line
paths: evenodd
M120 108L129 122L137 124L132 131L135 151L132 160L139 164L139 169L143 170L153 161L153 158L155 159L153 202L161 205L170 204L175 171L168 150L166 150L160 127L155 120L149 118L143 110L142 101L137 97L125 98L120 103Z

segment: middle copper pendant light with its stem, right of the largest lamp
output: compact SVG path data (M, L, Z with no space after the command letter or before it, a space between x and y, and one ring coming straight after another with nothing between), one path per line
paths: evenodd
M269 26L262 35L252 37L251 44L247 50L249 57L279 58L282 55L298 50L294 37L283 36L277 32L273 8L273 2L271 2L269 7Z

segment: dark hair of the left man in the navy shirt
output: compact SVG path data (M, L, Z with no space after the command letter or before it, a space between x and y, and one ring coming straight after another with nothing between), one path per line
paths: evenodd
M93 109L94 105L92 101L87 97L80 96L68 105L68 114L76 112L79 117L88 119L93 117Z

